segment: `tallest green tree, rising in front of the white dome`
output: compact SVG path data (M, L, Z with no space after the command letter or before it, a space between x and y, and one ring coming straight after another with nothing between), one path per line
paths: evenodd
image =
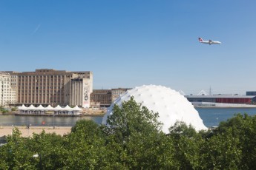
M111 169L174 169L174 145L160 131L158 116L133 97L114 106L103 127Z

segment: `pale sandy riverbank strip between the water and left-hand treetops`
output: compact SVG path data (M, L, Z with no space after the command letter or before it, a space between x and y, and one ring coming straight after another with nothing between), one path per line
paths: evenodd
M12 135L13 128L17 127L22 133L22 137L32 137L33 133L40 134L43 130L46 133L56 133L56 135L66 135L71 132L71 126L30 126L27 129L27 126L1 126L0 127L0 137Z

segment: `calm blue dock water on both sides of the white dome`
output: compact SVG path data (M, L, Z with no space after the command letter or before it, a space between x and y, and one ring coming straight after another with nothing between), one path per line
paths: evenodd
M247 113L248 115L256 115L256 108L197 108L200 118L207 127L218 126L220 121L232 118L237 113ZM102 117L52 117L52 116L15 116L0 115L1 126L74 126L77 120L86 119L94 120L96 123L102 122Z

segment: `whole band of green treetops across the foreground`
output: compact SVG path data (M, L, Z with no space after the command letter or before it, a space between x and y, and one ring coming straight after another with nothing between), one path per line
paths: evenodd
M201 132L177 122L168 135L157 118L131 98L114 106L108 126L79 120L68 135L33 137L14 128L0 147L0 169L255 169L255 116Z

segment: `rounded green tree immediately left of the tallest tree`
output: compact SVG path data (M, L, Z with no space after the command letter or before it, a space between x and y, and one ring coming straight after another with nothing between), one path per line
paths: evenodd
M64 169L104 169L108 166L105 137L93 120L79 120L65 136Z

